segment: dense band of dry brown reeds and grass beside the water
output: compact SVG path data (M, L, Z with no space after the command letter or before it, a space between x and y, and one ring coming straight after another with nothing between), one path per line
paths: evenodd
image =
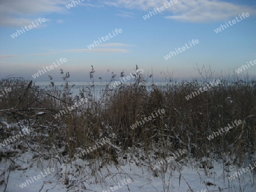
M93 96L94 73L92 68L89 73L92 86L81 89L76 97L72 97L68 77L64 77L65 88L61 90L53 81L47 89L42 89L35 85L28 87L29 81L22 78L1 80L0 89L13 89L0 98L1 141L27 125L36 127L37 135L23 139L27 139L31 146L41 146L36 151L43 155L54 145L56 151L61 148L60 155L68 155L70 161L75 153L80 152L79 148L93 146L102 137L108 137L113 145L106 144L84 156L84 159L104 158L106 162L118 164L116 147L121 148L123 153L130 147L139 147L145 154L157 151L155 154L159 157L166 157L168 152L176 149L187 149L187 157L197 160L221 158L226 154L238 165L251 161L256 143L255 81L246 76L243 80L238 80L236 76L215 77L221 80L220 86L187 100L185 96L199 89L201 80L175 82L167 75L168 84L165 86L146 86L149 83L140 75L133 84L120 85L115 90L109 89L108 84L101 99L97 100ZM203 81L213 80L212 75L206 74ZM112 73L110 82L114 78ZM23 94L24 97L20 97ZM53 118L56 112L72 106L81 98L88 98L88 102L60 118ZM137 120L162 108L165 114L134 130L130 128ZM44 114L38 114L42 111ZM210 141L207 139L212 132L236 119L241 119L243 123ZM9 129L3 121L9 124ZM22 148L20 143L11 145Z

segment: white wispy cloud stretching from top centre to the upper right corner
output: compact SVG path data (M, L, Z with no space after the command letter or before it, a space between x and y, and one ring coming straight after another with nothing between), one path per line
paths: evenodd
M144 11L152 11L156 7L163 6L164 3L168 5L167 0L116 0L114 2L107 0L102 3L108 6ZM177 3L166 9L167 16L164 18L181 22L208 23L230 19L242 12L249 12L253 15L256 14L256 8L224 1L177 0Z

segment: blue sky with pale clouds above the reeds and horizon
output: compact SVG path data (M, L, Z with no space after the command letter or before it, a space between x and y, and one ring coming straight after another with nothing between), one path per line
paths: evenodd
M135 65L155 81L191 80L196 64L233 74L256 60L255 15L251 0L0 0L0 78L61 81L63 69L89 81L91 65L96 81ZM255 77L256 65L242 70Z

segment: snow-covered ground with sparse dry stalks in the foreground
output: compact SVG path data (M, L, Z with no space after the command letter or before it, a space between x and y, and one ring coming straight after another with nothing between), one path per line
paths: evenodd
M4 172L6 191L256 191L254 170L241 174L240 178L229 181L236 166L227 165L223 160L212 160L209 169L196 161L186 159L170 161L159 165L158 170L150 169L147 158L137 155L119 155L119 165L108 165L105 160L82 160L62 163L47 157L37 158L24 153L15 160L11 172ZM151 157L150 157L151 158ZM1 161L5 170L11 161ZM17 166L17 164L19 166ZM200 168L201 167L201 168ZM246 166L244 166L246 167ZM47 170L47 168L49 168ZM51 172L51 168L54 171ZM2 173L2 172L1 172ZM3 180L3 174L1 180ZM40 178L42 177L42 178ZM34 179L33 179L34 178ZM39 179L40 178L40 179ZM30 183L30 180L32 183ZM36 181L37 180L37 181ZM26 182L27 181L27 182ZM26 187L20 187L26 183ZM29 185L28 185L29 183ZM0 191L6 185L1 185Z

